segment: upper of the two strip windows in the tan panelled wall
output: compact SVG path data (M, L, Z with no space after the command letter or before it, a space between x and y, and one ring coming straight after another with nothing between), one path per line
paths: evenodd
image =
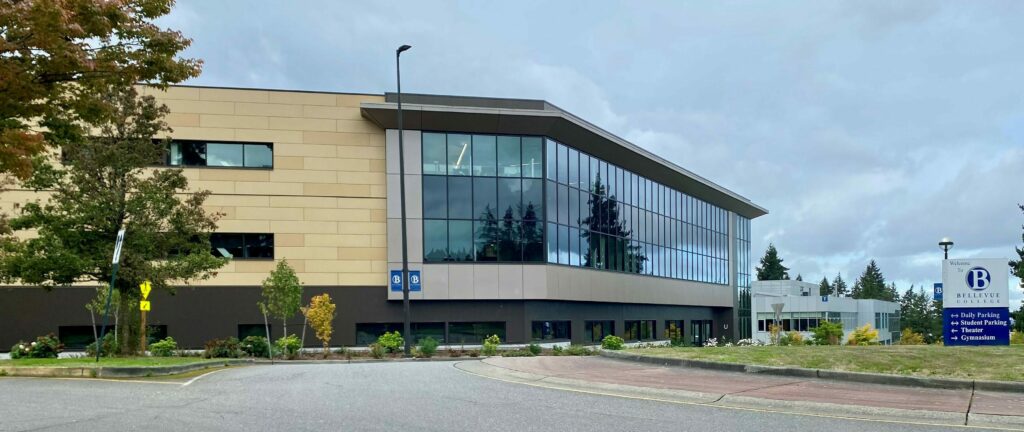
M273 144L173 140L167 148L172 167L273 168Z

